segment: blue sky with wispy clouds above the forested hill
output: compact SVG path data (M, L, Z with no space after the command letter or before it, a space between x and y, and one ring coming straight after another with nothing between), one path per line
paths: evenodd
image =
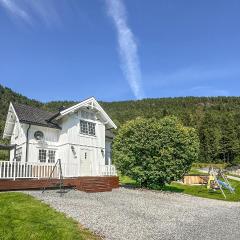
M0 0L0 84L41 101L238 96L239 0Z

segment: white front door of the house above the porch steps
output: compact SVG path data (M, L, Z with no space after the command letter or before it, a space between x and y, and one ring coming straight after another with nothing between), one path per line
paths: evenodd
M92 175L92 151L88 149L80 149L80 176Z

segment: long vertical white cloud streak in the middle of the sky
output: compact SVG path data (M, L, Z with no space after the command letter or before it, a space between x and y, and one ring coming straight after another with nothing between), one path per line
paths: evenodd
M144 97L138 47L134 34L127 24L127 15L122 0L106 0L108 13L117 30L119 54L123 72L137 99Z

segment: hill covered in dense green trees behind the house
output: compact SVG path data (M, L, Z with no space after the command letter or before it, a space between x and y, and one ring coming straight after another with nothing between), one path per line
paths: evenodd
M0 85L0 135L9 102L19 102L55 112L76 102L43 104ZM201 142L201 162L240 162L240 97L157 98L138 101L100 102L113 121L121 126L136 117L157 119L177 116L186 126L195 127Z

